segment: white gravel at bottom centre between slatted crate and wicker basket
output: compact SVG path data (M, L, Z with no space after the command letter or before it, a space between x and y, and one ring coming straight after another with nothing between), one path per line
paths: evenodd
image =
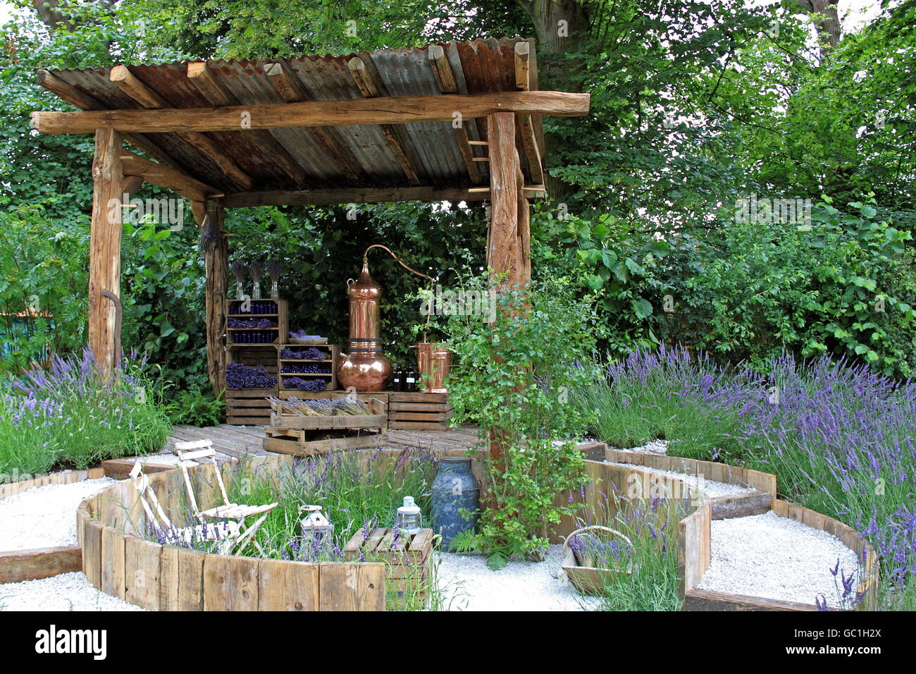
M448 611L583 611L599 602L568 584L559 545L542 562L510 561L498 571L486 566L483 555L437 554L442 608Z

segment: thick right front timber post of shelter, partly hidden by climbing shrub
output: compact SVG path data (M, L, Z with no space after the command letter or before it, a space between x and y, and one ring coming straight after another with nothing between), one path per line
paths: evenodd
M515 143L515 114L493 113L486 117L489 141L490 199L493 204L490 219L486 264L498 277L505 279L497 292L505 292L526 281L522 237L518 231L518 150ZM527 218L526 218L527 220ZM527 238L525 239L527 242ZM497 315L496 320L500 320ZM505 438L498 431L490 432L490 458L504 454Z

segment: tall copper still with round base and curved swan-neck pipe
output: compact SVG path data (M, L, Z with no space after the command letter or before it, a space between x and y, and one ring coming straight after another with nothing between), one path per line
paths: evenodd
M347 281L347 299L350 303L350 348L342 353L337 365L337 379L344 388L351 386L357 392L376 393L387 389L391 379L391 361L382 353L380 304L382 287L369 274L369 251L374 248L387 253L400 266L430 281L431 277L410 269L398 256L381 244L374 244L363 253L363 271L355 281Z

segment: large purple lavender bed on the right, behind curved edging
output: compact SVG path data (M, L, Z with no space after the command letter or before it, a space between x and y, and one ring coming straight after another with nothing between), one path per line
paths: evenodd
M617 447L776 474L780 495L856 527L881 559L883 602L916 608L916 382L826 356L724 366L682 348L635 351L583 387L592 432Z

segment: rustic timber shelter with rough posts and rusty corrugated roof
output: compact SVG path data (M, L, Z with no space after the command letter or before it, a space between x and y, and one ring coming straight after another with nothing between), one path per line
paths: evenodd
M529 199L546 194L540 118L589 108L588 94L538 89L533 40L522 39L41 71L38 80L81 111L34 112L32 127L95 134L89 345L97 362L111 369L120 343L106 296L120 296L122 210L109 205L150 182L189 199L199 227L215 233L205 257L216 392L226 364L225 208L489 200L487 264L523 284Z

